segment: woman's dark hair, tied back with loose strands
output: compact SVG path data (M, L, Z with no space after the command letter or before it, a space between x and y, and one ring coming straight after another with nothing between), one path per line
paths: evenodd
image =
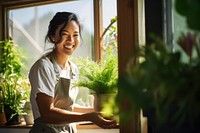
M58 43L61 40L63 29L65 28L67 23L70 21L75 21L78 24L79 32L81 35L81 25L80 25L80 22L78 20L78 17L76 16L76 14L71 13L71 12L57 12L56 15L53 17L53 19L49 23L48 32L45 37L45 42L49 41L51 43ZM55 35L56 29L58 28L58 26L63 23L64 23L64 25L59 31L60 39L58 40L58 42L54 42L54 40L52 40L51 37Z

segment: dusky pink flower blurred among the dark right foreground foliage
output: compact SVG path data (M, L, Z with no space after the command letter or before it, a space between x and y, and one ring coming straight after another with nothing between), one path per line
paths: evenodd
M181 37L179 37L177 43L191 58L192 49L196 45L196 35L190 32L188 32L187 34L182 34Z

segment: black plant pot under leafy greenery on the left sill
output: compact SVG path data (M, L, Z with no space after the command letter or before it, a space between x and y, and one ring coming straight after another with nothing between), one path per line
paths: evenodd
M20 116L13 109L11 109L8 105L4 106L4 111L6 115L6 125L17 125L20 124Z

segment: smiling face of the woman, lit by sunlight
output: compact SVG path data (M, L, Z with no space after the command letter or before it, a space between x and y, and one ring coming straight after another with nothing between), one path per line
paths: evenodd
M52 39L55 42L60 40L60 29L64 24L59 25L55 36ZM79 33L79 25L75 21L70 21L64 27L61 33L61 40L55 45L55 50L59 54L71 55L80 43L80 33Z

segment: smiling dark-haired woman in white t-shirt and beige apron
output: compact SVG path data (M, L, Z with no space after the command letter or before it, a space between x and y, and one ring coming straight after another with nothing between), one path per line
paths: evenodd
M101 128L115 126L115 121L104 119L93 108L74 104L78 88L72 83L78 80L78 67L69 57L80 43L80 29L74 13L58 12L50 21L47 39L54 48L38 59L29 73L35 120L30 133L77 133L74 122L82 121L91 121ZM76 108L85 113L76 112Z

